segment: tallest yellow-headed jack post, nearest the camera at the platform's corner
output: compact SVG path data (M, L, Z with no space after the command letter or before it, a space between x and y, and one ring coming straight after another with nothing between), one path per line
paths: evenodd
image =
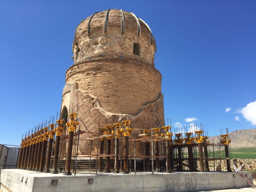
M74 138L74 131L76 129L76 125L79 124L78 121L75 120L78 113L70 113L70 122L66 123L66 126L69 130L69 140L67 143L67 156L66 156L66 168L63 172L63 175L72 175L70 172L71 169L71 158L72 158L72 148L73 148L73 138Z

